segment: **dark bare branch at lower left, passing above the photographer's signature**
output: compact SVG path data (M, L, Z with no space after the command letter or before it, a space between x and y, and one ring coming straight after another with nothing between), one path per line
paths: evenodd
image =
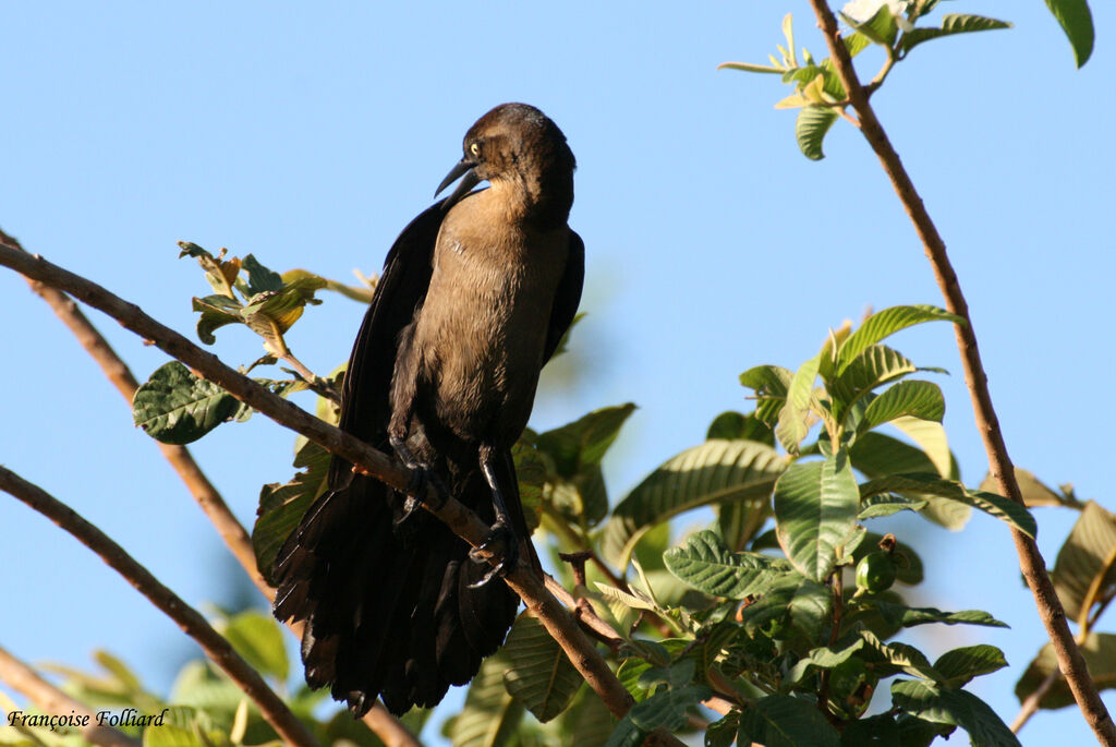
M288 744L317 747L317 741L307 728L287 708L279 696L271 691L263 678L233 650L193 607L164 586L147 568L128 555L104 531L84 519L69 506L45 490L22 479L11 470L0 467L0 490L11 494L22 502L39 511L59 527L70 533L83 545L100 556L118 572L136 591L179 624L194 639L213 663L220 667L260 708L280 737Z

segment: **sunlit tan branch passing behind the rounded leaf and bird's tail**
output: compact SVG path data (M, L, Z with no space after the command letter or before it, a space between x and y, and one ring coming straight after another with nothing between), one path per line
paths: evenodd
M18 240L3 231L0 231L0 242L27 251ZM132 398L135 396L135 392L140 387L140 382L133 375L127 364L124 363L112 345L108 344L108 341L89 322L89 318L81 313L81 309L78 308L74 299L38 280L26 279L31 290L42 298L42 300L47 301L47 305L55 312L55 315L74 333L81 347L97 362L102 372L108 377L121 395L131 403ZM154 439L152 440L154 441ZM273 601L275 590L268 585L257 567L256 553L252 549L252 540L248 531L229 509L228 504L224 502L224 498L221 497L218 489L205 477L205 473L194 460L190 450L182 446L163 443L161 441L155 441L155 444L163 453L163 457L171 463L179 478L185 483L186 489L190 490L194 500L201 506L210 523L217 528L229 552L240 563L251 582L260 590L260 593L263 594L268 602ZM296 638L302 638L301 623L291 623L288 624L288 628L295 633ZM373 705L372 710L365 714L362 720L387 747L420 747L420 743L415 739L414 735L400 724L398 719L387 712L387 709L378 700Z

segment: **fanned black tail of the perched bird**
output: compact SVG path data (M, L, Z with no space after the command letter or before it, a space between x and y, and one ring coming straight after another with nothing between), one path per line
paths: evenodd
M526 537L510 459L500 471L501 485L514 491L509 502ZM453 491L493 520L479 475ZM347 487L315 501L272 566L276 617L307 622L307 683L331 686L334 698L357 716L377 696L394 714L436 705L450 684L471 680L500 647L519 605L499 580L470 586L488 566L470 561L469 545L449 527L422 510L396 525L400 511L397 494L354 475Z

